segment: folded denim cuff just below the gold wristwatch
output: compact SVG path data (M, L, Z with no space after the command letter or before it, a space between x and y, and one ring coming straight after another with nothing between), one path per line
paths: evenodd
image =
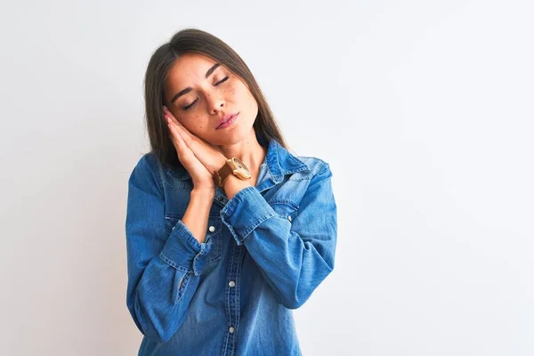
M221 219L238 245L242 245L250 232L272 216L276 216L276 212L255 186L239 190L221 210Z

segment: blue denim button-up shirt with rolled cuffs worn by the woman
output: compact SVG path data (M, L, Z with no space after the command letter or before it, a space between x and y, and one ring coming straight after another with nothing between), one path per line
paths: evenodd
M275 139L256 186L216 187L205 242L182 216L190 174L146 153L128 180L126 305L139 355L300 355L292 309L334 269L337 214L327 162Z

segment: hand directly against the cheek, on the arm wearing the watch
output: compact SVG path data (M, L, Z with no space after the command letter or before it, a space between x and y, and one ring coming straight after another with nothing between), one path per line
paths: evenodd
M163 112L166 117L169 117L172 121L171 125L175 125L179 134L182 136L185 144L193 151L198 160L206 167L206 169L214 174L214 171L221 169L226 162L226 157L219 150L215 150L214 147L196 136L191 134L190 131L185 128L173 115L173 113L163 107Z

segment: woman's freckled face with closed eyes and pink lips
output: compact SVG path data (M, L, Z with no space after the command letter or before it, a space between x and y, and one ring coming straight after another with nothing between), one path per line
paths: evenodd
M258 113L254 96L239 77L197 53L182 54L169 70L166 107L192 134L213 145L244 140ZM238 115L230 125L220 126L232 114Z

